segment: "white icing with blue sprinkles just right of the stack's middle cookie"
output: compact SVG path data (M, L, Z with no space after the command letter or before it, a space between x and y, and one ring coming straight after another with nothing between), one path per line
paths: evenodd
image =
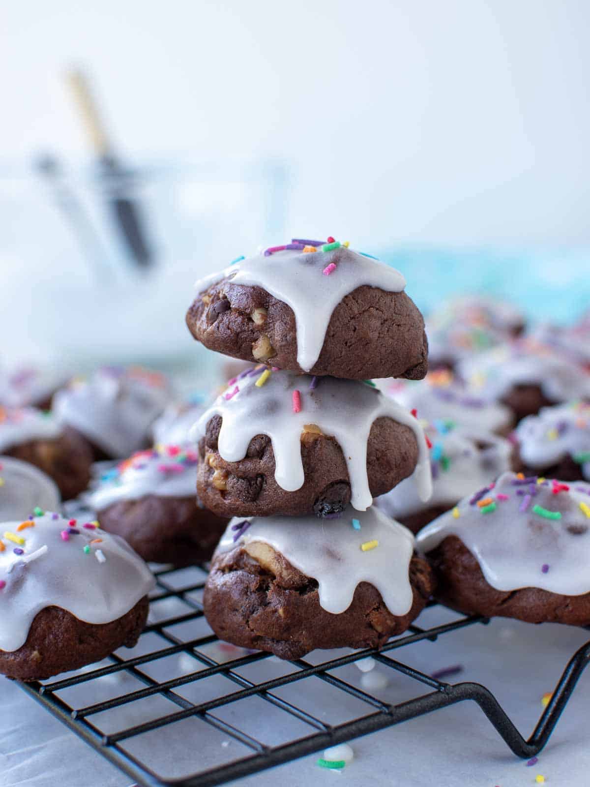
M394 519L425 511L436 505L454 505L470 490L493 481L510 470L510 442L483 430L465 430L444 420L426 424L432 450L433 493L422 502L410 478L405 478L375 504Z

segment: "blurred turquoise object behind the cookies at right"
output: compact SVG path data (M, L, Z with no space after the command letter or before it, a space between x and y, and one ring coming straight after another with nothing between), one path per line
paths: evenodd
M404 274L407 294L425 314L459 294L507 299L535 321L571 323L590 309L590 249L403 246L378 256Z

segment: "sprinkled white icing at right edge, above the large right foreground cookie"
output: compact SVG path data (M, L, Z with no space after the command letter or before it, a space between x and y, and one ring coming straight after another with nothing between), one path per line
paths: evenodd
M571 456L590 481L590 402L541 408L522 419L515 430L522 461L536 470Z

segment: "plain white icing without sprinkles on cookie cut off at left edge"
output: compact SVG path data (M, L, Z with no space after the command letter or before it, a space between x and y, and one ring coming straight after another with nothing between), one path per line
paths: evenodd
M0 456L0 522L25 518L36 506L55 511L61 497L53 479L28 462Z

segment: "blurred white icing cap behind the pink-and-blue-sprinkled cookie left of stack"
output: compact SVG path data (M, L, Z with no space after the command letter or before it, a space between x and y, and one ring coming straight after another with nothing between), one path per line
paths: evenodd
M170 399L164 375L135 366L105 366L57 391L53 412L110 456L124 457L142 448Z

